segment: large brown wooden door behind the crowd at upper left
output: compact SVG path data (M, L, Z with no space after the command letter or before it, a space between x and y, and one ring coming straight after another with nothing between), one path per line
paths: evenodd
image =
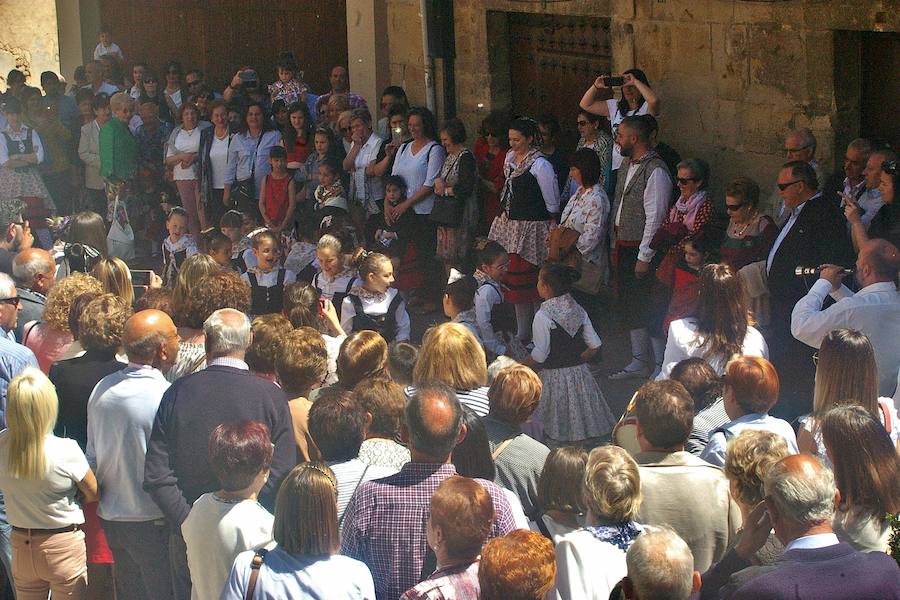
M345 0L100 0L100 8L129 68L142 61L161 71L178 60L202 69L216 90L244 65L262 83L275 81L282 50L294 52L317 93L328 91L333 65L347 64Z

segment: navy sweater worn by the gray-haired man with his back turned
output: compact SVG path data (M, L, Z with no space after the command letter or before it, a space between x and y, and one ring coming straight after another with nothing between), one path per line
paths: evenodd
M287 398L249 371L213 365L175 381L163 394L144 465L144 489L174 526L201 494L220 489L206 460L209 435L221 423L261 421L275 454L260 502L272 510L281 480L297 464Z

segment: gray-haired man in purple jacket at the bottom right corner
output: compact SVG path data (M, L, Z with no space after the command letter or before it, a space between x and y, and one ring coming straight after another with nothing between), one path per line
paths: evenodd
M840 494L828 467L794 454L769 468L764 486L766 499L748 515L737 546L703 574L702 600L900 598L894 559L855 550L834 535ZM773 565L751 566L773 528L784 554Z

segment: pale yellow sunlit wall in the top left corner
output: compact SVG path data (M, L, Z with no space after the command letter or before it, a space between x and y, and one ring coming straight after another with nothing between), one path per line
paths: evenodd
M29 85L40 86L42 71L59 73L59 40L54 0L0 1L0 86L6 74L24 71Z

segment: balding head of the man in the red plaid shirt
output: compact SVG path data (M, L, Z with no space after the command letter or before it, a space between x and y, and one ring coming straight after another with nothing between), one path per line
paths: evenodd
M462 429L462 407L456 392L438 383L418 388L406 405L406 427L413 451L446 460Z

